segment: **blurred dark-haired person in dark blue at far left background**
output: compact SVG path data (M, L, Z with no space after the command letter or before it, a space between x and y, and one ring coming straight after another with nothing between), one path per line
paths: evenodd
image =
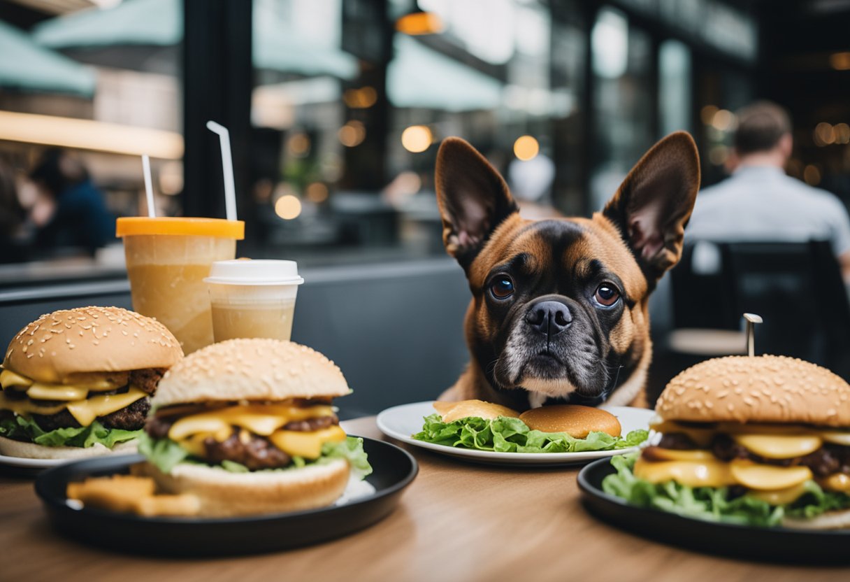
M83 248L94 255L97 248L115 239L115 216L106 208L103 192L67 151L45 151L30 179L40 194L30 211L37 226L37 248L53 252Z

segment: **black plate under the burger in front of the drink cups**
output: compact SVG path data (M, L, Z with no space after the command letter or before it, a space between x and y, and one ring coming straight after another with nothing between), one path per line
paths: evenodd
M363 439L377 491L345 505L241 518L139 517L83 508L65 501L69 482L87 476L127 473L141 455L86 459L44 471L36 480L54 528L75 541L112 550L170 556L221 556L286 550L339 538L380 521L394 510L401 492L419 471L411 454L371 438ZM132 534L128 534L132 532Z

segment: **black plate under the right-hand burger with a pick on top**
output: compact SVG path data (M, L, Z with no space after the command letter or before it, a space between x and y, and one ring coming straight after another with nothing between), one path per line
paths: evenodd
M615 472L610 459L584 467L578 477L581 501L594 516L632 533L690 550L768 562L850 562L850 530L756 528L637 507L602 490L602 480Z

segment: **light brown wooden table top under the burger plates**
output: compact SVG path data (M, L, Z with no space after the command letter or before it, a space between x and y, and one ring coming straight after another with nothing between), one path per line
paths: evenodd
M374 418L346 423L381 438ZM326 544L207 560L124 556L59 538L31 482L0 478L0 580L687 580L850 579L703 556L598 522L579 503L578 469L470 465L409 448L419 476L382 522ZM131 542L132 543L132 542Z

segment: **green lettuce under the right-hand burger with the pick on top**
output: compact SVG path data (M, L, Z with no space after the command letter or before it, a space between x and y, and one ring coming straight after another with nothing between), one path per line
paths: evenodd
M830 510L850 508L850 495L824 491L813 481L806 493L789 505L769 505L749 495L733 496L728 488L691 488L677 482L650 483L632 473L638 453L611 459L617 472L602 482L605 493L632 505L649 507L711 522L772 527L784 516L814 517Z

